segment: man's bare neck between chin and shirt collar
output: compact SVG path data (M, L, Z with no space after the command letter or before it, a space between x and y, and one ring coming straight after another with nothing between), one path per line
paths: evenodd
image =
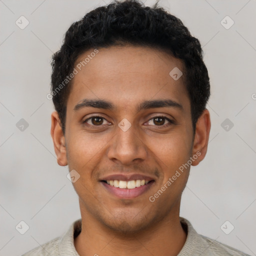
M82 229L74 239L80 256L87 255L162 255L176 256L186 240L186 232L179 221L179 205L175 214L135 234L120 234L81 211Z

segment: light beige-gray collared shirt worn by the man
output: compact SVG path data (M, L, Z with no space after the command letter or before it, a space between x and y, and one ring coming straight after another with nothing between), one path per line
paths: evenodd
M187 237L177 256L249 256L235 248L198 234L185 218L180 217L180 222L187 232ZM74 247L74 238L80 231L81 219L77 219L63 235L28 251L22 256L79 256Z

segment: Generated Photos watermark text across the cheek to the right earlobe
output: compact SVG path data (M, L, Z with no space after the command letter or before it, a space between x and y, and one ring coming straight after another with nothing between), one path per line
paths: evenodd
M189 158L186 163L183 163L178 167L175 174L172 177L168 178L168 180L161 186L161 188L154 194L148 197L150 202L154 202L156 198L158 198L180 175L184 172L184 168L187 169L191 163L201 155L201 152L197 151L193 156ZM180 173L181 172L181 173Z

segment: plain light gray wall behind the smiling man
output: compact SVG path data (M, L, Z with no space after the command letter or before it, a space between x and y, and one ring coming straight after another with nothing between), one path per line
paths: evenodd
M80 218L68 168L58 166L50 137L49 62L71 22L107 2L0 0L0 255L20 255ZM159 3L199 38L211 81L208 151L191 167L180 215L197 232L255 255L256 1ZM24 29L15 24L21 15L29 21ZM221 24L226 15L234 21L229 29ZM21 118L28 123L23 131L16 126ZM226 118L228 130L221 126ZM15 229L21 220L29 226L23 235ZM220 228L226 220L234 226L229 234Z

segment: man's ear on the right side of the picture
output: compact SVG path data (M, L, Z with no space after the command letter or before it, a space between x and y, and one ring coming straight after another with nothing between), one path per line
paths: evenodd
M192 146L192 155L198 157L192 161L191 165L197 165L207 152L207 145L210 132L210 113L204 109L196 122L194 141Z

